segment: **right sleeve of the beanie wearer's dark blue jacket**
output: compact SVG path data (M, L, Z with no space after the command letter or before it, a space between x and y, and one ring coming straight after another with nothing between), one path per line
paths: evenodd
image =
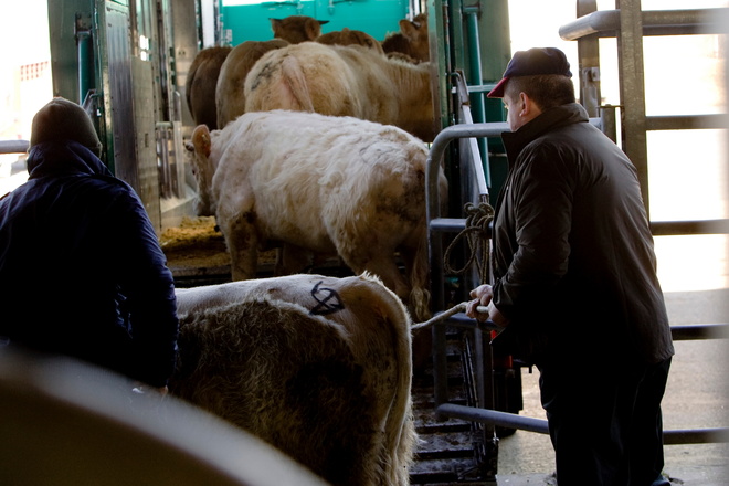
M175 370L178 317L175 282L141 201L129 188L116 201L122 294L129 313L133 373L162 387Z

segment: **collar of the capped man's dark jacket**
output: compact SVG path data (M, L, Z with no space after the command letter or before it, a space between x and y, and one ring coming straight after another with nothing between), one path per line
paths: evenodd
M501 134L509 163L514 163L521 150L543 134L566 125L588 123L588 112L579 103L556 106L545 110L537 118L516 131Z

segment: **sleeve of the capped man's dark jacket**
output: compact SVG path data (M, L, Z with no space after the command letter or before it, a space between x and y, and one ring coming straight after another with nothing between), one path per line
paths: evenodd
M567 273L570 255L574 177L566 154L551 145L528 147L520 155L513 218L516 253L494 286L494 304L508 318L543 306Z

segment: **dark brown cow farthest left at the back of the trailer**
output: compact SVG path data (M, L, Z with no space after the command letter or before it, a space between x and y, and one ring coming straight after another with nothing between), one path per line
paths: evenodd
M188 78L184 83L184 97L190 115L197 125L208 125L211 130L218 128L215 110L215 86L220 68L232 47L208 47L194 56Z

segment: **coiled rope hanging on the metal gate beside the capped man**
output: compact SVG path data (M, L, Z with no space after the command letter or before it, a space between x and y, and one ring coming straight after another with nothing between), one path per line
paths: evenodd
M494 219L494 208L485 202L482 202L478 205L467 202L464 207L464 211L466 212L466 228L453 239L448 247L445 250L445 254L443 255L443 268L446 272L459 275L475 263L476 271L478 272L478 279L480 282L486 282L489 275L488 265L490 260L488 257L488 223ZM464 237L468 242L471 254L468 255L468 261L463 267L455 270L448 264L451 252Z

